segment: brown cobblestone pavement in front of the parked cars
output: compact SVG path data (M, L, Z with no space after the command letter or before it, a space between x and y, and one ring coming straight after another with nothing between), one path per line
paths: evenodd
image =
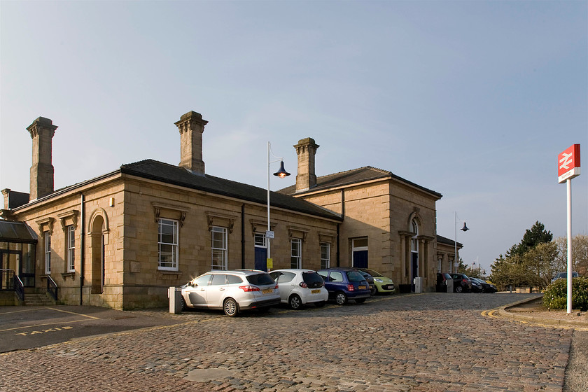
M391 295L0 355L0 391L562 391L573 328L484 316L524 294Z

